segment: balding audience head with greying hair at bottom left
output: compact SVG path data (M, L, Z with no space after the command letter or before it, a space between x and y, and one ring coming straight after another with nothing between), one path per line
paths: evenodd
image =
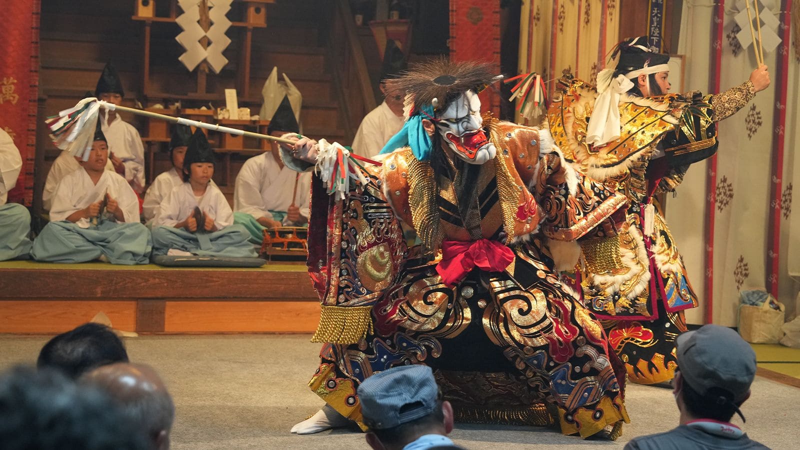
M170 448L175 407L153 368L146 364L109 364L86 373L81 380L116 400L122 416L146 434L150 448Z

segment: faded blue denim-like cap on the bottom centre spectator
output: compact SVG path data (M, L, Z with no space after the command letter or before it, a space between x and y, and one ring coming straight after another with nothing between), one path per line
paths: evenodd
M358 386L358 400L368 427L394 428L434 412L438 386L428 366L398 366L367 377Z

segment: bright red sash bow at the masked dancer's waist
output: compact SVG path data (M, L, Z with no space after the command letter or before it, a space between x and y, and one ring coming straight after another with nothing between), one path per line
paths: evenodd
M514 251L498 241L444 241L442 260L436 271L448 286L458 283L474 267L482 271L498 272L514 261Z

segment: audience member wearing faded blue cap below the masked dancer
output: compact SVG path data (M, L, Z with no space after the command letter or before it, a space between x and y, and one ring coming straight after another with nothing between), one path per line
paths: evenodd
M453 431L453 407L442 401L427 366L390 368L358 386L366 442L376 450L458 448L446 436Z

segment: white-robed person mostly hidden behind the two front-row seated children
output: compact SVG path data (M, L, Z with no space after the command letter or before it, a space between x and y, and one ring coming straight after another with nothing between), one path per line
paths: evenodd
M170 139L170 161L172 168L169 171L162 172L155 177L153 183L147 188L145 194L145 201L142 203L142 217L145 222L150 225L153 218L158 212L158 207L166 199L167 195L174 187L183 184L183 157L186 155L186 147L189 145L189 139L192 137L192 129L187 125L174 125L172 127L172 139ZM214 183L211 180L210 183Z

